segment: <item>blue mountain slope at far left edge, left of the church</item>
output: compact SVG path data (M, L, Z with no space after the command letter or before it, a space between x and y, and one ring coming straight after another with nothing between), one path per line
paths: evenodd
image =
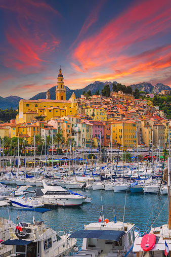
M23 99L18 96L9 96L9 97L0 97L0 109L5 110L7 108L13 108L17 109L18 108L18 103L20 100Z

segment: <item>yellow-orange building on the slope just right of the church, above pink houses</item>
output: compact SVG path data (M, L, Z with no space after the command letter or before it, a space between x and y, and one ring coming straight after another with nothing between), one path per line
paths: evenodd
M86 107L85 113L93 120L107 120L107 113L104 108Z

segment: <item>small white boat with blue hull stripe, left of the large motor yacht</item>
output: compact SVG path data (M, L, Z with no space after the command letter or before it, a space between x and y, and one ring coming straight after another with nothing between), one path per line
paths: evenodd
M38 208L44 206L40 201L35 200L34 198L26 198L24 197L10 197L10 202L14 207L19 208Z

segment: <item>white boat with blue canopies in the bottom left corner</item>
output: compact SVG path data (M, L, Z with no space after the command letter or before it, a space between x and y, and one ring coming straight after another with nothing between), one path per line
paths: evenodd
M50 209L22 209L21 211L34 211L45 213ZM19 216L16 219L16 224L21 224ZM76 239L69 238L70 234L65 231L55 231L49 226L46 226L44 221L24 222L22 220L22 229L19 225L10 228L10 239L7 239L2 244L5 246L12 246L10 256L39 256L39 257L62 257L69 255L71 250L75 247Z

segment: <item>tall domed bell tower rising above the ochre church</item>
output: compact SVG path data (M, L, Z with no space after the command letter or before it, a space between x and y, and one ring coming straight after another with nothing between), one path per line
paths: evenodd
M56 100L66 100L66 89L64 86L64 77L62 75L61 67L58 74L58 84L56 86Z

